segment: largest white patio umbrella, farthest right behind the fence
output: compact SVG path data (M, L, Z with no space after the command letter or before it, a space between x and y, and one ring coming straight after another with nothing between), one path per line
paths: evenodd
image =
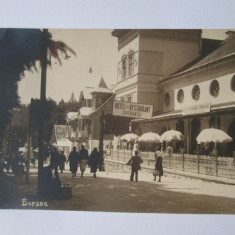
M202 130L196 139L199 144L205 142L223 143L231 142L233 140L224 131L215 128Z

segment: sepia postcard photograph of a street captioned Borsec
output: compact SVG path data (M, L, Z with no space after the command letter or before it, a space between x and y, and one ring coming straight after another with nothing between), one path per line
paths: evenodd
M0 209L235 213L235 29L0 29Z

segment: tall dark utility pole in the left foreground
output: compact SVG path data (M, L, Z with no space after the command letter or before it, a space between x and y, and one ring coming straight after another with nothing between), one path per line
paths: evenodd
M43 29L43 45L41 57L41 92L40 92L40 120L39 120L39 138L38 138L38 194L43 187L41 177L43 168L43 145L44 145L44 126L45 126L45 106L46 106L46 74L47 74L47 47L48 47L48 29Z

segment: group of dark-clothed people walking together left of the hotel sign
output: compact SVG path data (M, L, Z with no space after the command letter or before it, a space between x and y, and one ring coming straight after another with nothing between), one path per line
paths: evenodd
M53 148L51 152L50 168L54 170L55 177L58 177L58 167L63 173L65 168L65 162L69 162L70 171L72 173L72 178L77 176L78 166L80 165L81 178L84 175L87 164L90 166L90 171L93 173L93 177L96 178L97 168L99 166L99 152L97 148L94 148L90 156L84 145L81 146L81 150L78 152L76 147L70 152L68 159L63 152L58 153L56 147Z

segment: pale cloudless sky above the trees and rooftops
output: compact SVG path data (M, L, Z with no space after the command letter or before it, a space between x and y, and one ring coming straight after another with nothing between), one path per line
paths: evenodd
M81 90L86 86L97 86L101 77L107 85L116 83L118 49L117 38L111 35L111 29L54 29L49 30L54 40L61 40L70 46L77 56L62 60L60 66L53 61L47 70L47 98L55 101L68 101L72 92L79 98ZM225 39L223 30L203 30L203 37ZM22 103L29 103L31 98L40 97L41 70L25 72L19 83L19 95ZM90 67L93 72L89 73Z

